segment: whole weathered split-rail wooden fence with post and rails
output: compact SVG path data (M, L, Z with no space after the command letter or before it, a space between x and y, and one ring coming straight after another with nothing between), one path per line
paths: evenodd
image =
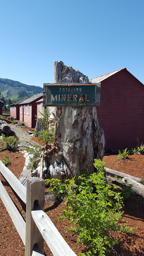
M44 240L54 256L76 256L44 213L44 180L29 178L25 188L1 161L0 172L26 203L25 223L0 181L0 197L25 245L25 256L44 255Z

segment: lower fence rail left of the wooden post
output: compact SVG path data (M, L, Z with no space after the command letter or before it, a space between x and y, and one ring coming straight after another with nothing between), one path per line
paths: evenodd
M1 197L1 200L2 200L6 210L8 211L8 213L10 215L10 218L13 221L14 226L17 229L18 234L20 235L23 243L25 244L25 221L23 220L19 211L15 207L13 201L9 197L8 193L6 192L1 181L0 181L0 197Z

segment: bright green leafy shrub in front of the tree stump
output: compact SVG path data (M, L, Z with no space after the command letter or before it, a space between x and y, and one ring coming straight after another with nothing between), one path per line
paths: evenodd
M79 185L75 184L74 178L65 182L48 179L45 184L49 184L49 191L56 190L57 196L67 197L66 208L58 219L65 217L71 223L67 229L78 233L77 242L86 245L86 255L103 256L117 242L112 237L113 232L132 230L125 224L118 225L123 213L122 198L120 192L116 191L116 185L111 188L105 183L104 162L95 159L94 166L97 173L81 175Z

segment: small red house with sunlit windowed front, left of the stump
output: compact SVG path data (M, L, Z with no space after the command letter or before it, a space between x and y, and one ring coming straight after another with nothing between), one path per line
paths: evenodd
M19 105L19 121L24 121L24 124L28 127L35 127L37 115L37 103L36 101L42 98L43 93L38 93L32 97L24 99Z

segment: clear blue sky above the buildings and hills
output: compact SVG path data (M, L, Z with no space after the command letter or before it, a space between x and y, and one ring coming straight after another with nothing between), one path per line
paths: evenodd
M126 67L144 83L144 0L0 0L0 77L54 82L54 61L88 78Z

